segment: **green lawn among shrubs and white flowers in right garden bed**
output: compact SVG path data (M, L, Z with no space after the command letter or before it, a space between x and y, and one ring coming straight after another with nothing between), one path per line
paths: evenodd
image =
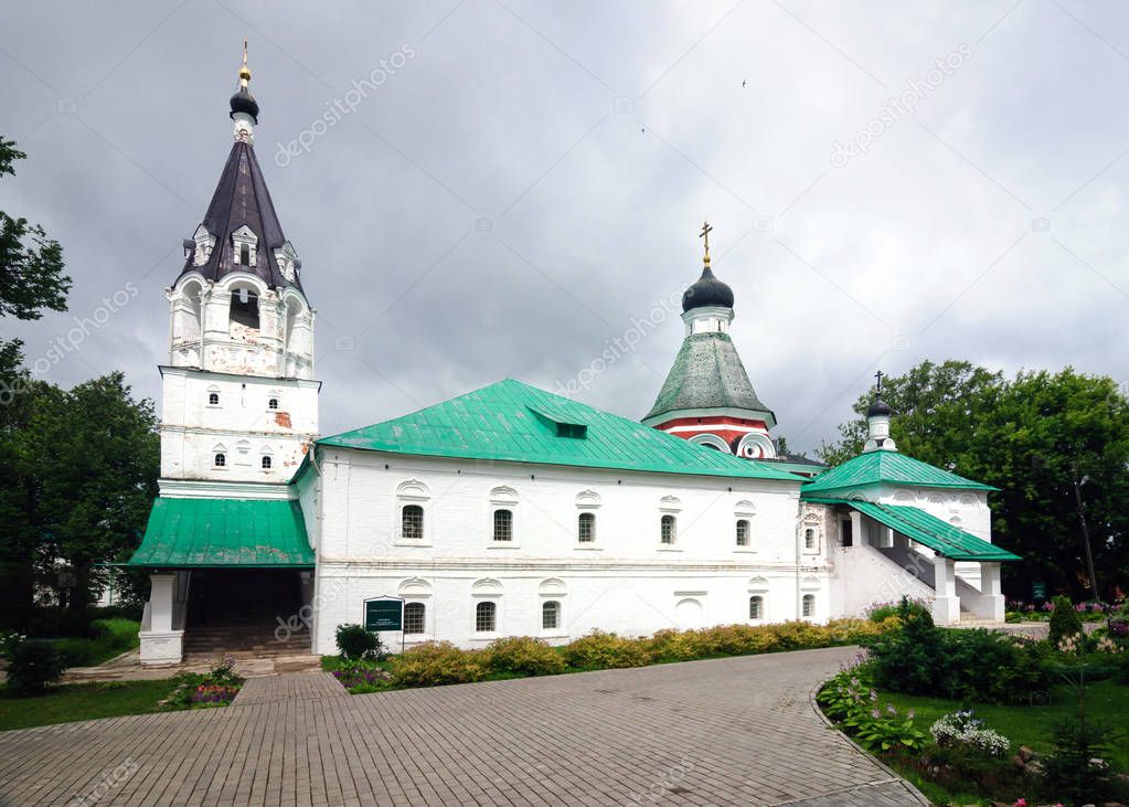
M916 723L925 729L937 718L962 709L962 701L944 698L926 698L922 695L902 695L890 692L879 693L879 702L893 703L900 711L912 709L917 712ZM1077 691L1069 685L1054 687L1050 705L999 705L971 704L977 716L988 723L988 728L999 731L1012 740L1013 745L1025 745L1036 753L1048 753L1052 749L1051 734L1054 725L1064 718L1075 717L1078 710ZM1114 681L1099 681L1086 686L1087 719L1096 720L1121 729L1129 714L1129 686ZM1129 734L1122 733L1114 738L1109 760L1114 767L1129 771Z

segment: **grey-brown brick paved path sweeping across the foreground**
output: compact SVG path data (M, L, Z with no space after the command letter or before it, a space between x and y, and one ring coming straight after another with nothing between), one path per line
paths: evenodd
M358 696L325 675L252 679L227 709L0 733L0 801L921 804L812 709L854 655Z

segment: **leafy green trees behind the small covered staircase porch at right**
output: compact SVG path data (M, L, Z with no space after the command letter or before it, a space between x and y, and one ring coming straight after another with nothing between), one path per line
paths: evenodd
M861 449L866 409L820 456L837 465ZM1097 595L1110 598L1129 572L1129 400L1113 379L1079 374L1021 371L1014 378L968 361L925 361L883 383L899 450L962 476L999 488L990 495L992 540L1023 556L1005 564L1005 582L1030 596L1042 579L1075 598L1088 588L1079 486L1089 527Z

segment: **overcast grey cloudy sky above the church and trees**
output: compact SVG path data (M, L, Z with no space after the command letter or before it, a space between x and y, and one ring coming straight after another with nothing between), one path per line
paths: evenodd
M1129 378L1118 2L5 6L0 133L28 159L0 209L62 243L75 288L0 328L32 362L115 309L51 363L62 385L121 368L159 400L244 36L325 433L506 376L642 416L704 218L795 448L879 366Z

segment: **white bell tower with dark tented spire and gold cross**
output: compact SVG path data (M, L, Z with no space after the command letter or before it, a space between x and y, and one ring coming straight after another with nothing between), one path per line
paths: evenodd
M315 312L255 157L259 103L246 43L234 140L203 221L166 290L161 491L286 483L317 436Z

